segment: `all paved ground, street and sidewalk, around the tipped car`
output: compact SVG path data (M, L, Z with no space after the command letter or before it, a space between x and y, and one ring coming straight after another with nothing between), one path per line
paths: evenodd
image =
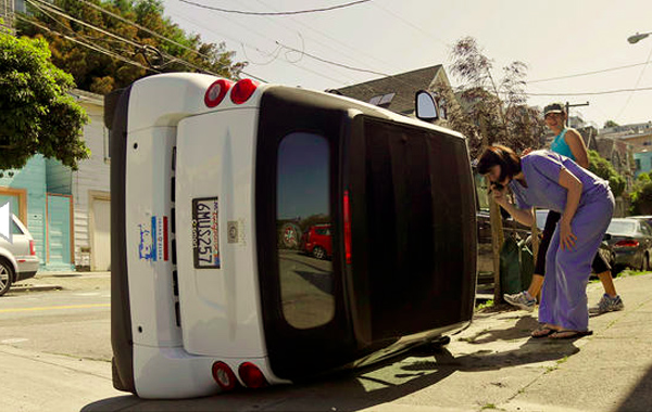
M322 265L314 265L317 272L327 269ZM308 383L186 400L113 389L108 274L34 283L63 289L0 298L0 411L652 410L652 274L616 279L625 310L591 318L594 334L581 339L530 338L536 312L479 312L443 349ZM588 291L590 302L602 294L599 283Z

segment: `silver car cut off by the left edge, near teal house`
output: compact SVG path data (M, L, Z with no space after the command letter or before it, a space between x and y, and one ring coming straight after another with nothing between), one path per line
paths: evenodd
M12 215L12 242L0 237L0 296L11 285L34 278L38 271L38 257L34 237L21 220Z

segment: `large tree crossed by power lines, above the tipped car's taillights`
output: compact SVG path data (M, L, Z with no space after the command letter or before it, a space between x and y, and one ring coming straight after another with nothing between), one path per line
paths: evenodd
M50 42L52 62L78 87L105 94L140 77L168 72L205 72L236 79L224 42L204 43L163 16L160 0L53 0L30 2L20 33Z

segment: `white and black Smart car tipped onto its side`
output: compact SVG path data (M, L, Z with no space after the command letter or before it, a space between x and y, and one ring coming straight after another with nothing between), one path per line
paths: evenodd
M471 322L461 134L200 74L140 79L106 107L117 389L187 398L299 382ZM301 254L300 232L324 222L330 259Z

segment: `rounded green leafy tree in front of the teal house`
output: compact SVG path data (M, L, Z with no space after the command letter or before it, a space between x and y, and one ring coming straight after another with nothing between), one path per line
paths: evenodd
M73 77L49 59L45 40L0 33L0 169L40 153L76 170L90 155L82 139L88 116L68 94Z

